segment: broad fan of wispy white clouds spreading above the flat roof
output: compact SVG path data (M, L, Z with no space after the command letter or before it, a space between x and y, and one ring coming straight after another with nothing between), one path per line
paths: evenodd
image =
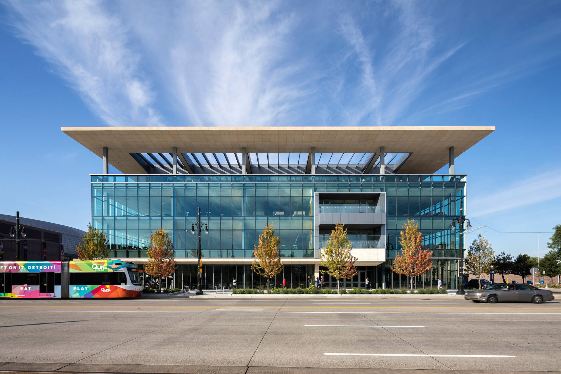
M507 61L430 3L0 1L111 126L418 124L544 68L561 35L536 24Z

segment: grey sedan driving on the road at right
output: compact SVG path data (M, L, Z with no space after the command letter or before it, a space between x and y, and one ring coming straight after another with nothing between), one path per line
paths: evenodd
M484 290L467 290L464 298L474 303L514 301L539 304L542 301L553 300L553 293L550 290L523 283L494 284Z

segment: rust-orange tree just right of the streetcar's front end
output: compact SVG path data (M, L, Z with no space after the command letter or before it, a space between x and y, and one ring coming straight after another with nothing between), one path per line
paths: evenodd
M150 232L150 247L148 248L148 262L144 264L144 271L158 279L170 276L176 269L174 260L173 243L164 229Z

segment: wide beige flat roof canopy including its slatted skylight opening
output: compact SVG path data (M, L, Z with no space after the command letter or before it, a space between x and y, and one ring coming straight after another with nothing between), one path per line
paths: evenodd
M432 174L495 130L484 126L424 127L63 127L62 131L124 174L240 174L242 147L254 174Z

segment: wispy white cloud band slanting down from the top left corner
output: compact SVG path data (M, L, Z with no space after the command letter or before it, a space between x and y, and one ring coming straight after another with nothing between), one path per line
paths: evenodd
M161 120L141 56L127 45L118 16L94 1L10 1L21 38L57 67L100 118L113 126Z

